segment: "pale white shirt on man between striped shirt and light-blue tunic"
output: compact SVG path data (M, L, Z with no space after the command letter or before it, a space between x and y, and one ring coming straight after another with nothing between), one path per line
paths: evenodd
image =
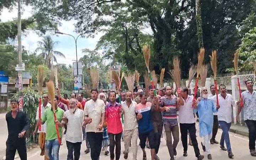
M193 96L188 95L186 101L184 101L184 105L180 106L178 118L179 123L195 123L192 102Z

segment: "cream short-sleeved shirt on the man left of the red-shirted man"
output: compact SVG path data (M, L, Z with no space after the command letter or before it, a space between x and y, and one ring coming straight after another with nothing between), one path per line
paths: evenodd
M104 101L91 99L85 103L84 115L92 118L92 123L86 125L86 132L102 132L102 130L97 129L98 124L101 122L102 113L105 113Z

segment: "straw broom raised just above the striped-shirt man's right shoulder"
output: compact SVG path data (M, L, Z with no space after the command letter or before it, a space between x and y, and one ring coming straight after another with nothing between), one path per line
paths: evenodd
M181 72L180 72L180 60L178 57L174 57L172 59L174 69L170 70L169 74L175 82L177 91L180 90L181 87Z

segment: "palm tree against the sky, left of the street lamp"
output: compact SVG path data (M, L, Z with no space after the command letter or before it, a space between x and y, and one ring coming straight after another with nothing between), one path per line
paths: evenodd
M42 56L45 60L45 64L48 66L48 68L53 67L53 61L57 62L58 57L65 58L65 55L59 51L53 50L54 46L57 45L59 41L53 41L50 36L44 36L42 41L37 42L37 50L41 50L42 53L40 53L38 56Z

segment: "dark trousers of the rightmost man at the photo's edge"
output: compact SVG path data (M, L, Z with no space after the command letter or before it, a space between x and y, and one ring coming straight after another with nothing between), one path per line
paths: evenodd
M249 149L255 150L255 140L256 140L256 121L245 120L246 126L249 129Z

